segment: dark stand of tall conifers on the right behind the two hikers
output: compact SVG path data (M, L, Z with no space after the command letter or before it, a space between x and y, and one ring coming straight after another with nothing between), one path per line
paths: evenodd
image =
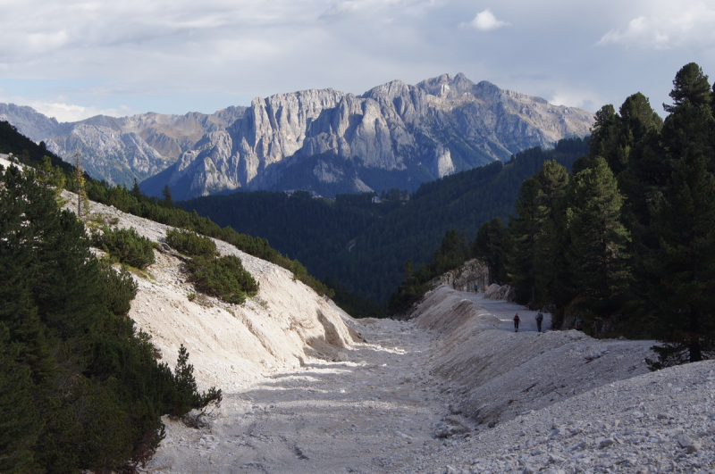
M665 121L640 93L602 107L574 174L545 163L475 245L558 327L663 341L653 367L715 357L715 100L693 62L670 97Z

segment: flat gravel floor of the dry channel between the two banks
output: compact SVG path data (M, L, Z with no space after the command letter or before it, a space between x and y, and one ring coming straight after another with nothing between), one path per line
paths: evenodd
M224 398L211 426L167 420L152 472L391 472L442 439L447 411L429 374L433 342L414 322L363 320L347 361L311 362Z

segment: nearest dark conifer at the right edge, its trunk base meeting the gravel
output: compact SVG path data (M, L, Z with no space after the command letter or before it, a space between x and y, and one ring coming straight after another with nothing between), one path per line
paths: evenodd
M696 150L677 169L654 208L660 237L650 268L660 365L715 357L715 177Z

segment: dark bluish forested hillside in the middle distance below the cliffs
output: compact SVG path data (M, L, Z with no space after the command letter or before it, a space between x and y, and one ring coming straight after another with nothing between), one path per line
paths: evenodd
M588 152L587 140L562 140L553 150L533 148L509 163L494 162L422 185L408 202L396 190L381 204L372 195L311 199L307 193L237 193L180 205L219 225L266 238L311 274L384 304L404 264L425 263L449 229L471 241L479 226L513 212L521 182L547 160L570 168Z

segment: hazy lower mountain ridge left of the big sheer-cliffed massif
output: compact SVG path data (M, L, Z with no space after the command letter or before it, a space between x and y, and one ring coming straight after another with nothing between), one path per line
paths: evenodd
M97 115L60 123L31 107L0 104L0 121L10 122L26 137L44 141L49 151L67 162L80 153L82 165L94 178L130 184L164 170L207 132L225 129L245 111L246 107L229 107L210 115Z

